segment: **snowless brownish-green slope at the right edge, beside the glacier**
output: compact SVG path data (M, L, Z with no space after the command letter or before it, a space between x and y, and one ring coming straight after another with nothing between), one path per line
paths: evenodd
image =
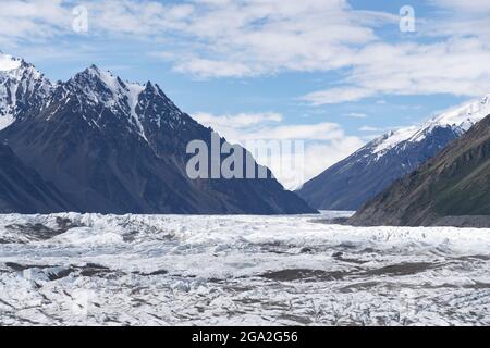
M490 116L395 182L348 223L490 227Z

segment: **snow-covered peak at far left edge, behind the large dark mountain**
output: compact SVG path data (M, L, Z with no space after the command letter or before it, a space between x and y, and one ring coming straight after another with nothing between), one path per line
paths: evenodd
M0 52L0 130L41 108L52 88L34 65Z

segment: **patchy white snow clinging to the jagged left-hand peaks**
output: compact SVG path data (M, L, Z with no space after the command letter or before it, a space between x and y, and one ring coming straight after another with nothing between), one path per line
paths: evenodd
M74 86L82 91L74 96L74 98L79 101L79 113L82 115L85 113L87 107L95 105L97 111L99 111L98 107L102 105L103 108L111 110L115 115L127 117L127 122L130 123L127 129L137 133L148 142L143 125L144 115L138 114L136 111L139 96L145 90L145 86L124 83L111 72L101 71L96 65L91 65L83 73L77 74L70 83L77 84ZM100 88L100 84L106 88ZM61 86L64 86L64 84L61 84ZM33 95L39 97L40 99L46 100L46 103L41 105L41 108L46 108L52 102L50 94L54 87L56 86L46 79L34 65L0 52L0 130L12 124L19 116L20 110L17 100L15 99L17 95L22 97L29 96L29 98L32 98ZM154 85L154 89L159 94L160 98L167 99L163 94L160 95L156 85ZM83 100L81 99L82 97L84 98ZM64 100L64 103L66 104L69 101L70 97ZM25 100L23 100L23 102L25 102ZM175 109L171 110L170 116L173 117L174 121L181 122L182 114L176 110L173 103L170 101L168 102ZM46 119L50 120L52 114L53 113L47 115ZM100 126L98 126L98 120L88 120L85 115L83 115L83 117L93 126L100 128ZM157 114L154 119L156 124L160 126L161 115Z

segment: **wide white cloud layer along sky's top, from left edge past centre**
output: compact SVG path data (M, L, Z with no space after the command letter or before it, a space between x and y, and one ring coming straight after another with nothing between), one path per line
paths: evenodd
M75 4L79 3L8 0L11 10L3 11L2 3L0 18L5 25L0 34L28 41L74 34ZM176 71L199 77L343 67L351 63L355 47L377 40L375 27L395 22L387 13L355 11L347 0L87 0L83 4L88 9L89 36L156 42Z

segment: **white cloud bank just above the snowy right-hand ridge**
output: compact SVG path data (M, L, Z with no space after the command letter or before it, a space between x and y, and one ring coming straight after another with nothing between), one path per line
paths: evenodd
M490 91L490 45L477 38L438 44L373 44L358 51L342 88L311 92L313 105L358 101L378 95L476 97Z

